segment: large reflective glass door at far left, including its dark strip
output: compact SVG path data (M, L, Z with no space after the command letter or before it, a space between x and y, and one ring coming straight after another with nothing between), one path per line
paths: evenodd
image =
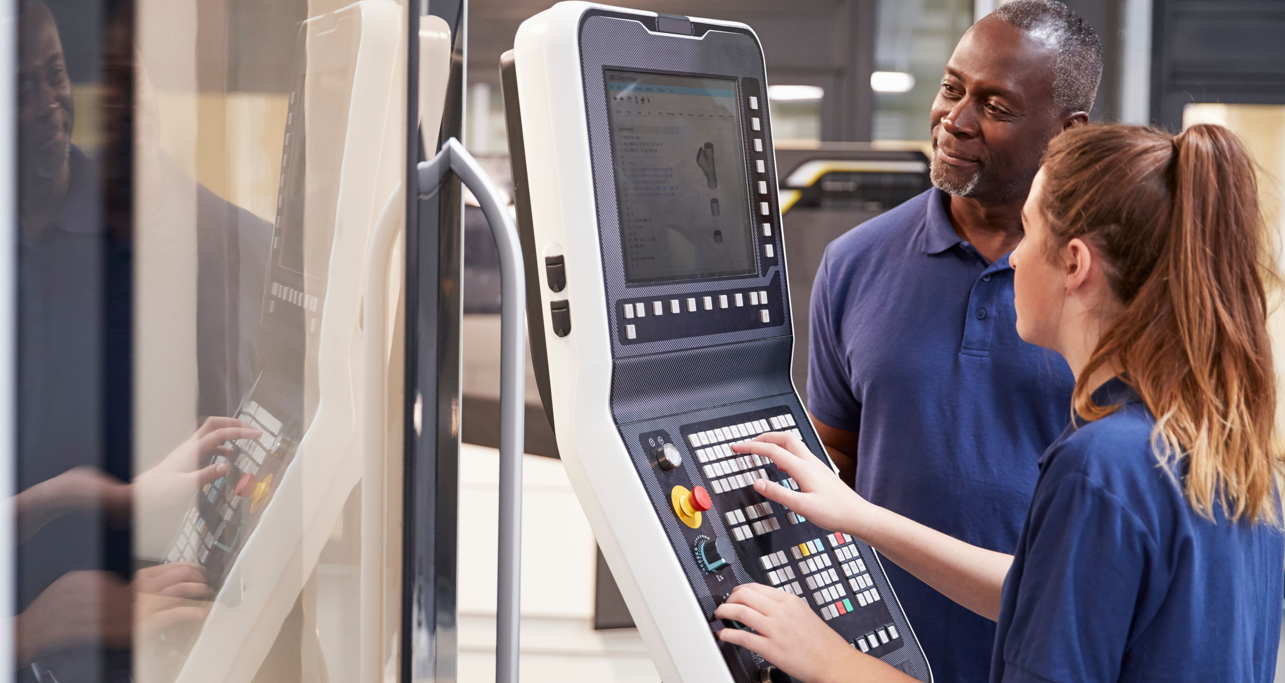
M18 23L19 679L396 673L405 5L46 1Z

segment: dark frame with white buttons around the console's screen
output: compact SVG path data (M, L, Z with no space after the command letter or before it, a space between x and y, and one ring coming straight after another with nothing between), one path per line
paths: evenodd
M662 42L663 46L659 45ZM605 13L589 12L581 23L581 63L613 353L623 357L790 334L789 306L780 303L788 302L788 293L783 286L784 253L776 159L771 154L771 122L765 86L767 81L758 41L749 35L717 27L708 30L696 41L685 36L655 33L636 17L621 21ZM754 221L752 235L757 272L699 280L627 281L608 122L607 71L735 78L741 108L745 191L750 200L750 218ZM762 172L757 171L757 162L762 162ZM759 181L766 185L766 194L758 191ZM745 306L730 313L707 311L703 307L694 312L684 308L673 313L668 307L668 302L673 299L685 302L690 297L717 298L720 294L758 290L768 291L768 306ZM648 322L625 318L625 302L645 302ZM657 302L663 302L664 308L653 320L653 304ZM761 311L771 308L771 302L779 302L779 308L768 311L765 321Z

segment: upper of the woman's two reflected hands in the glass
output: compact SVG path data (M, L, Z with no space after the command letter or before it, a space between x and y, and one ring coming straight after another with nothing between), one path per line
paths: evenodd
M150 470L134 480L139 512L152 514L191 499L200 487L227 474L226 463L200 467L208 453L231 454L227 442L257 439L263 433L234 417L208 417L188 440L182 442Z

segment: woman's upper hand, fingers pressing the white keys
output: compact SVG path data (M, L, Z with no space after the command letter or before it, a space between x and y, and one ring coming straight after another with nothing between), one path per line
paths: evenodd
M878 514L879 507L848 488L839 475L813 456L797 437L770 431L752 440L732 444L731 449L775 462L779 470L799 485L799 490L794 492L759 479L754 481L754 490L763 497L803 515L822 529L865 538L862 532L870 526L871 517Z

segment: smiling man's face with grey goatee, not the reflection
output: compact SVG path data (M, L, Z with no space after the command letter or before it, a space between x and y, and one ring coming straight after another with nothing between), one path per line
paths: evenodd
M1063 125L1056 59L1052 46L995 17L964 35L933 101L933 185L987 202L1025 195Z

